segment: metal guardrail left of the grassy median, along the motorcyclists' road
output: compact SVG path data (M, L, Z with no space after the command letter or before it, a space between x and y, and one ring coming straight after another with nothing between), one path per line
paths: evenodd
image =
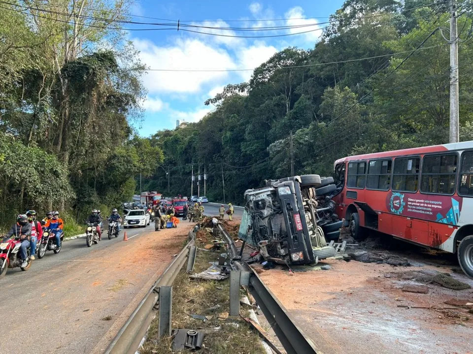
M156 315L159 303L159 287L172 285L182 266L186 263L189 249L195 243L196 228L189 232L189 243L179 252L156 283L148 290L128 321L105 349L104 354L135 354Z

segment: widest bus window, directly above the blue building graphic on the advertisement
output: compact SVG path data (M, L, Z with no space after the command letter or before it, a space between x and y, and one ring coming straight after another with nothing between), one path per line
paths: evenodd
M453 194L456 174L456 154L426 155L422 164L420 191L423 193Z

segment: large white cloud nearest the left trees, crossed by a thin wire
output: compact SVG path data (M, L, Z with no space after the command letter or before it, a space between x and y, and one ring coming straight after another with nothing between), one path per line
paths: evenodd
M223 49L214 48L197 39L177 39L174 46L158 47L153 42L134 39L140 59L150 68L211 70L235 69L236 64ZM148 71L143 83L150 93L189 92L201 90L204 83L226 79L227 72Z

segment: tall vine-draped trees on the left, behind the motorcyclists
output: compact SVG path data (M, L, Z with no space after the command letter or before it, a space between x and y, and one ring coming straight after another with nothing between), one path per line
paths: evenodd
M130 2L0 5L0 225L58 209L68 221L129 200L162 151L131 123L145 97L120 23ZM113 50L112 50L113 49Z

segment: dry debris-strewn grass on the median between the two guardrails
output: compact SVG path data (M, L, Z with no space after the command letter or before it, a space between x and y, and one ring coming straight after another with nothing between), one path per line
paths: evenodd
M199 247L201 247L199 245ZM219 252L218 252L219 253ZM197 251L194 271L201 272L216 261L216 252ZM239 317L229 317L220 321L218 315L229 312L230 302L229 279L223 281L191 280L185 272L185 266L174 281L172 289L172 329L190 328L205 332L203 344L204 353L208 354L262 354L265 353L260 344L259 336ZM211 312L207 309L216 305L220 307ZM241 314L247 316L240 308ZM191 314L212 316L206 322L190 317ZM214 328L219 328L217 331ZM172 338L162 338L157 341L158 321L153 320L146 342L140 349L140 354L169 354ZM180 353L190 353L184 350Z

